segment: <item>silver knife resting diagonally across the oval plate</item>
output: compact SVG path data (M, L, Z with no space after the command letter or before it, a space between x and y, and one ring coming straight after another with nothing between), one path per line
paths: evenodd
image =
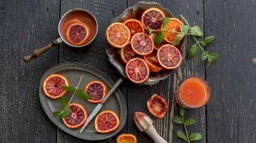
M117 87L120 85L120 83L123 81L123 79L118 79L118 81L115 83L115 85L113 86L113 88L109 91L109 93L107 94L107 96L105 96L105 98L103 99L103 101L99 104L97 104L97 106L93 109L93 112L91 112L91 114L89 115L89 117L87 118L85 124L82 126L82 128L80 129L79 133L82 133L83 130L86 128L86 126L89 124L89 122L91 122L91 120L96 116L96 114L99 112L99 110L101 110L103 104L105 101L107 101L107 99L109 99L109 96L112 95L112 93L114 93L114 91L117 89Z

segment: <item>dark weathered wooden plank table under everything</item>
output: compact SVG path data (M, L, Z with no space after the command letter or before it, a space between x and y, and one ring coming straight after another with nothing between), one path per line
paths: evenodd
M44 113L38 98L41 75L59 63L78 62L96 67L117 81L121 75L105 53L105 29L126 7L138 1L107 0L1 0L0 1L0 142L91 142L70 136L55 126ZM202 134L199 142L256 142L256 1L255 0L182 0L157 1L178 17L204 29L215 40L207 47L217 52L218 60L209 68L200 58L186 60L168 79L154 86L138 86L125 80L122 87L128 108L128 120L122 133L136 134L139 143L153 142L134 125L133 114L149 114L146 100L153 94L168 102L163 119L154 119L158 133L168 142L183 142L176 137L182 129L171 123L180 106L173 92L191 76L209 82L212 97L207 106L188 110L186 117L196 118L189 132ZM60 17L72 8L92 12L99 23L93 44L72 48L60 44L40 58L24 63L23 55L59 37ZM193 44L189 39L189 45ZM115 137L105 141L115 142Z

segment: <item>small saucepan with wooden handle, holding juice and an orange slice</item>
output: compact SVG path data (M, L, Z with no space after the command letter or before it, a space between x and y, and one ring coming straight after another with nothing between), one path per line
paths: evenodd
M59 35L50 44L34 50L30 55L24 56L24 61L28 62L33 58L43 55L46 50L61 42L72 47L83 47L90 44L97 34L97 20L85 9L72 9L66 12L59 21Z

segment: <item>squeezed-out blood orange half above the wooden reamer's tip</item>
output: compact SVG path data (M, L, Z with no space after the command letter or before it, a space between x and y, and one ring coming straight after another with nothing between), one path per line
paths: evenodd
M163 118L167 112L168 104L159 95L152 95L147 101L147 109L154 117Z

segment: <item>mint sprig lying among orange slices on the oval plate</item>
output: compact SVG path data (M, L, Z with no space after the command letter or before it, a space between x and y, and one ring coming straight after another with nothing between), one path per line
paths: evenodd
M64 96L60 97L59 102L60 102L60 104L62 104L63 107L62 107L61 111L53 112L54 116L59 117L59 119L61 119L61 118L67 117L70 114L71 109L69 107L69 104L72 101L74 95L76 95L80 99L90 99L89 95L84 90L78 88L82 79L83 79L83 75L81 75L81 78L80 78L78 84L76 85L76 87L69 87L69 86L61 87L62 89L64 89L67 92L73 92L74 90L75 91L73 92L73 95L68 102L67 102L67 99L64 98ZM77 93L76 93L76 91L77 91Z

